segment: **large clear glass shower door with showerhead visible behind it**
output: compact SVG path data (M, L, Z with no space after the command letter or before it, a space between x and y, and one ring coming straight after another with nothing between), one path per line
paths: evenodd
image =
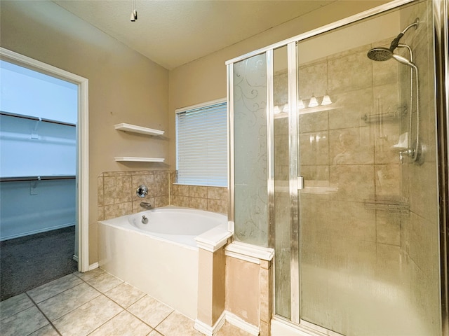
M420 77L417 106L411 66L367 57L419 17L401 43L432 73L429 6L297 43L301 325L331 335L440 335L433 85ZM385 22L399 25L380 34ZM394 53L410 59L405 47ZM419 108L426 149L413 162L405 151L415 148Z

